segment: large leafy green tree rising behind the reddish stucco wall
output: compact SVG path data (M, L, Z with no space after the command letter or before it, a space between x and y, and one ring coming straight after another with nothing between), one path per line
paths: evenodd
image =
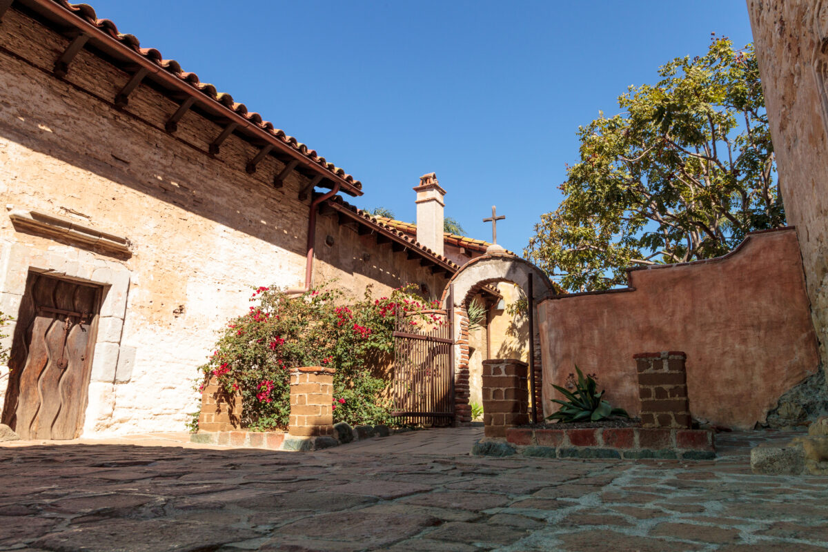
M753 46L714 38L655 85L630 86L623 113L579 127L580 161L525 254L569 290L626 282L631 265L729 252L784 225Z

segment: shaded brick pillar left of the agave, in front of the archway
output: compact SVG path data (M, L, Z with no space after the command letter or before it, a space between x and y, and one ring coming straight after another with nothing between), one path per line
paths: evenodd
M515 359L483 361L483 423L486 437L529 423L528 365Z

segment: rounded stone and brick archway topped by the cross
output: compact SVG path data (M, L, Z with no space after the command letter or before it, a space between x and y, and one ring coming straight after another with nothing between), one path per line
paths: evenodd
M493 247L490 247L493 249ZM532 282L530 284L530 281ZM532 288L532 304L534 305L532 318L537 320L537 304L539 301L555 295L555 288L546 274L526 259L495 249L482 257L476 257L460 267L460 270L451 277L443 290L440 306L448 309L450 289L454 288L454 328L455 328L455 415L458 423L471 421L471 406L469 406L469 319L466 314L466 305L484 286L499 282L511 282L519 286L523 293L529 296ZM539 324L533 324L532 343L532 372L535 381L536 404L541 401L541 337Z

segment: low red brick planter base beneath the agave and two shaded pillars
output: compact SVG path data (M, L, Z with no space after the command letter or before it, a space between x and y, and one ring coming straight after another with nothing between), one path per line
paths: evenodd
M506 430L506 440L524 456L543 458L708 460L716 455L712 430L510 428Z

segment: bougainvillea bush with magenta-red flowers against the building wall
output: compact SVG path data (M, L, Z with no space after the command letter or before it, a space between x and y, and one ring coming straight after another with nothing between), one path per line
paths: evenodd
M335 422L388 424L389 405L383 399L388 382L378 372L391 359L397 313L435 323L418 314L434 305L410 287L376 300L368 288L362 300L352 303L334 287L293 297L277 287L259 287L250 301L248 313L229 321L200 368L205 382L217 377L226 391L242 394L242 425L249 430L286 428L290 369L303 366L335 368Z

